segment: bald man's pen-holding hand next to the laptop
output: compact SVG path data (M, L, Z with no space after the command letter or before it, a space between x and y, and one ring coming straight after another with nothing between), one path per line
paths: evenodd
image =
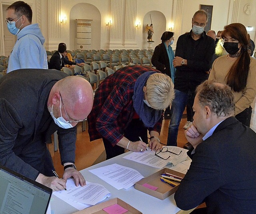
M64 190L66 188L66 180L57 178L56 176L47 177L40 173L36 178L36 182L48 186L54 191Z

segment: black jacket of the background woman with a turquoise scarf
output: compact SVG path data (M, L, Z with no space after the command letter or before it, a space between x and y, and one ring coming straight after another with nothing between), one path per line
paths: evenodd
M158 46L156 46L154 54L151 58L151 62L152 65L155 66L157 70L171 77L169 57L164 43L161 43Z

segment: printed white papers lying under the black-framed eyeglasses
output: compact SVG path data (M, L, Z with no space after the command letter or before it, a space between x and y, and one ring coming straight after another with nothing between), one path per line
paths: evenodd
M158 155L161 156L162 158L168 158L170 156L170 158L168 158L168 160L163 160L162 158L158 157L155 155L155 151L152 151L150 149L148 149L148 151L144 151L144 152L132 152L126 156L124 156L123 158L126 158L128 160L133 160L135 162L141 163L141 164L145 164L148 166L152 166L158 169L162 169L164 168L168 163L172 163L173 165L176 165L184 160L186 160L187 158L187 150L180 148L180 147L176 147L176 146L167 146L168 147L168 151L171 152L175 152L176 154L179 154L180 151L181 154L180 155L176 155L176 154L172 154L170 152L160 152Z

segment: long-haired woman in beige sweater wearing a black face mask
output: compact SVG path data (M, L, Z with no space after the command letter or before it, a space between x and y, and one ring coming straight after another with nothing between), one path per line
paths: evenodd
M209 80L231 87L236 102L236 119L250 126L250 105L256 95L256 60L250 57L250 37L240 23L225 26L221 37L228 55L214 61Z

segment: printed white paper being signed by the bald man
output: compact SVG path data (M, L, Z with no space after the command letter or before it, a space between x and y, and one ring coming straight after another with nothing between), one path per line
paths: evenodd
M104 186L86 181L86 186L76 186L73 179L67 180L66 190L53 192L58 198L64 200L78 210L95 205L107 197L110 192Z

